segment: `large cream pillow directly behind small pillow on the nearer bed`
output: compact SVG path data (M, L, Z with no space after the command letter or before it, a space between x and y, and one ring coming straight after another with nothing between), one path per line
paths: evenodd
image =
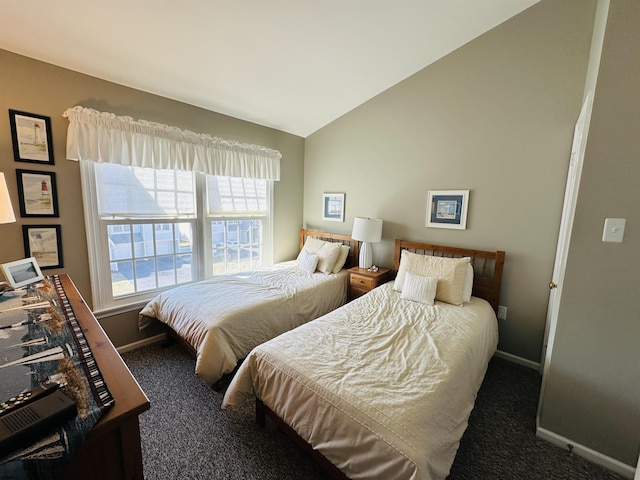
M470 261L471 258L469 257L434 257L431 255L418 255L408 250L403 250L400 257L400 268L393 288L399 292L402 291L404 277L407 272L425 277L437 277L436 300L453 305L462 305L467 265Z

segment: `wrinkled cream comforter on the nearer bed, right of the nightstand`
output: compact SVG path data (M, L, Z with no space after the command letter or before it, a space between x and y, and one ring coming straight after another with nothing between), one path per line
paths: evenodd
M223 408L256 395L351 479L442 479L497 347L490 305L385 284L255 348Z

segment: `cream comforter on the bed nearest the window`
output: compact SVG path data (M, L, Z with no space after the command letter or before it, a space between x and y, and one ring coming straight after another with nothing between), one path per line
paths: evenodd
M338 308L348 274L308 274L294 262L224 275L159 294L141 311L196 351L196 373L215 383L253 347Z

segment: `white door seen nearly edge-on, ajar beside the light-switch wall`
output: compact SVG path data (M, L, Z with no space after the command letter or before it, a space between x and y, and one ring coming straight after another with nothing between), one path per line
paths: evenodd
M564 272L567 263L569 240L571 239L571 229L573 227L573 217L576 211L576 201L578 199L578 188L580 186L580 175L582 173L582 164L584 162L584 151L587 143L587 133L589 131L592 104L593 92L588 92L573 132L571 159L569 162L569 172L567 174L567 186L564 192L564 204L562 207L562 217L560 219L560 233L558 234L556 259L553 265L553 277L549 282L547 323L545 325L544 342L540 358L542 386L540 389L540 401L538 402L538 416L540 415L540 408L542 407L545 374L547 373L549 359L551 358L551 353L553 351L553 340L555 336L556 323L558 321L560 295L562 294L562 282L564 280Z

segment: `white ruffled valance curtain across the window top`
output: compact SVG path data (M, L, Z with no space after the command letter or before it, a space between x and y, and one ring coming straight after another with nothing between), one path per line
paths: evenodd
M69 119L69 160L280 180L282 154L267 147L80 106L62 116Z

